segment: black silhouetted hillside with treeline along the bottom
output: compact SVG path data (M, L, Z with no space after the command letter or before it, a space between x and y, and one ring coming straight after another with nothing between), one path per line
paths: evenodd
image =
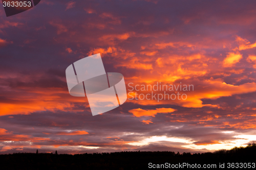
M56 151L57 153L57 151ZM174 152L115 152L94 154L33 154L14 153L0 155L1 169L146 169L149 164L256 163L256 144L247 147L219 150L214 153L190 154ZM236 166L236 164L233 164ZM248 164L243 164L243 166ZM241 165L240 165L241 166ZM255 165L254 165L255 166ZM184 167L183 167L184 168Z

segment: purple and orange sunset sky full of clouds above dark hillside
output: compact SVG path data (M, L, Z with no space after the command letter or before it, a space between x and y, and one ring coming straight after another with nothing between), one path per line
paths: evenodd
M255 5L41 0L6 17L1 4L0 154L204 153L256 142ZM98 53L106 72L123 75L127 100L92 116L65 71Z

